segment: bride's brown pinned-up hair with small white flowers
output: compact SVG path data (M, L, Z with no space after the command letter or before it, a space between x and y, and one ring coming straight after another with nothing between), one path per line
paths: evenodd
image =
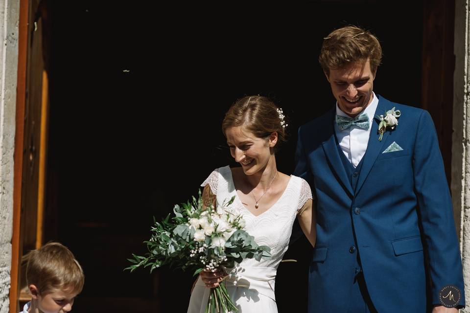
M277 150L279 144L287 140L285 127L281 123L283 121L287 126L287 120L285 116L281 119L278 109L267 97L254 95L238 99L225 113L222 132L225 135L228 128L237 126L243 126L258 138L269 138L272 133L277 132Z

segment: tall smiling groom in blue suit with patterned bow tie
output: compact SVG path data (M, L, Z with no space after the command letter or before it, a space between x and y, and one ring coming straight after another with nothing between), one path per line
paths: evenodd
M462 262L436 131L428 112L373 92L381 55L353 26L322 45L336 105L300 127L295 169L317 200L308 312L457 312Z

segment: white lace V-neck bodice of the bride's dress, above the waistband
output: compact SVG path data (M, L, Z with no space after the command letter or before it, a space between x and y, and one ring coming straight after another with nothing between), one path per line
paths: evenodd
M243 214L246 231L255 237L258 245L271 248L272 258L260 262L255 259L245 259L240 267L277 268L287 251L297 211L303 207L305 201L312 199L308 183L302 178L291 176L281 198L269 210L258 216L248 211L238 198L229 166L214 170L201 186L207 184L216 195L218 205L235 196L231 207Z

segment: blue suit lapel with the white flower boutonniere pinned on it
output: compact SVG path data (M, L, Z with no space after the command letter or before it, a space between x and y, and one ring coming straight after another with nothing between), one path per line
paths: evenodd
M361 189L362 185L364 184L364 181L367 179L367 176L369 175L369 172L372 169L372 166L376 162L376 158L379 155L379 152L381 151L383 145L387 141L388 135L390 134L390 132L385 132L383 134L382 140L378 141L379 135L377 134L377 130L378 130L379 121L375 117L376 115L383 114L387 110L392 109L391 106L390 108L388 108L389 106L390 106L389 101L385 100L382 97L378 97L378 105L377 105L376 113L374 115L374 120L371 123L371 127L372 127L371 135L369 137L369 142L367 144L366 154L364 155L363 160L362 160L362 169L359 173L359 178L357 180L357 185L356 185L354 194L357 194L359 190Z

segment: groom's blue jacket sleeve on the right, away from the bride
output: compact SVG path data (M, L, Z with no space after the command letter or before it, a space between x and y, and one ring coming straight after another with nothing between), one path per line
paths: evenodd
M426 111L422 112L418 122L413 175L422 236L429 258L432 304L440 304L441 289L453 285L461 293L458 305L464 306L462 261L452 201L434 123Z

